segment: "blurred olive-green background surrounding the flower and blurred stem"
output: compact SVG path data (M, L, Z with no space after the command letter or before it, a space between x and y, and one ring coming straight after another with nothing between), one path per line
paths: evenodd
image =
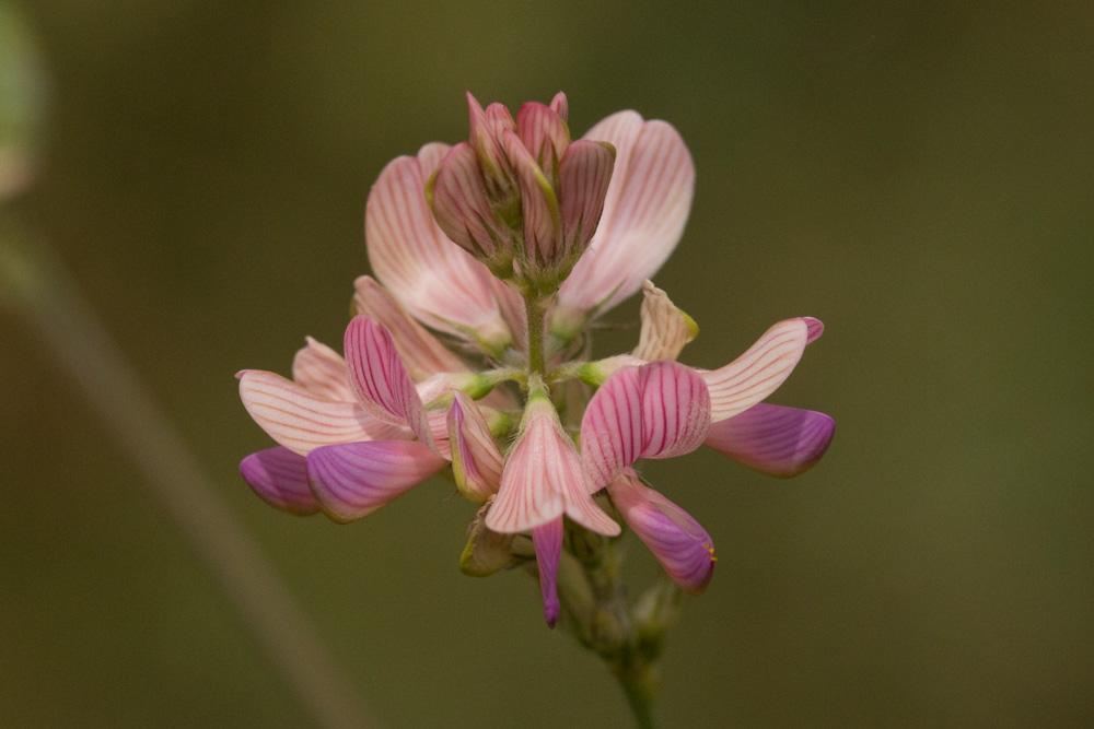
M666 726L1094 722L1089 3L20 7L53 105L19 214L386 726L628 719L532 580L459 574L444 483L347 527L258 502L232 374L340 341L369 186L464 136L465 90L559 89L578 133L631 107L690 146L656 277L702 328L688 362L828 327L775 399L836 416L814 471L648 468L720 554ZM0 725L311 726L38 337L0 326Z

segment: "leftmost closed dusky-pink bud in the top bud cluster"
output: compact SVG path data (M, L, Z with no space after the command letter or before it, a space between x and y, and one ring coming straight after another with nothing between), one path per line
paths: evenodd
M493 212L470 144L452 148L430 189L437 224L453 243L488 267L512 259L512 233Z

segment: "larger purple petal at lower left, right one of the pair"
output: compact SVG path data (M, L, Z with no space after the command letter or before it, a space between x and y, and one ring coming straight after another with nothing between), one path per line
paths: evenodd
M372 514L444 465L414 440L369 440L316 448L307 455L307 477L324 513L346 522Z

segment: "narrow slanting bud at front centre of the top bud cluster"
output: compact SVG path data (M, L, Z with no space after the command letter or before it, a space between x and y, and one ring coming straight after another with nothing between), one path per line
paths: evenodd
M521 188L525 256L534 269L552 269L561 255L561 222L555 190L515 133L507 132L502 143Z

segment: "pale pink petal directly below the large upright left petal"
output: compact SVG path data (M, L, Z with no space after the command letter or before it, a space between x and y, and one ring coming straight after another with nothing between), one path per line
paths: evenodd
M416 381L439 372L467 369L463 360L407 314L392 293L371 275L358 277L353 290L357 314L363 314L392 332L395 349Z

